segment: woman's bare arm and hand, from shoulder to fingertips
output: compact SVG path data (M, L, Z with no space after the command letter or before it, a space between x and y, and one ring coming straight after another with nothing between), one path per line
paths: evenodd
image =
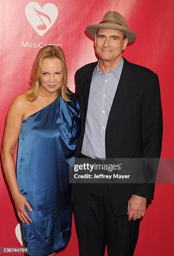
M8 110L8 114L5 122L5 131L3 136L3 144L1 150L1 158L3 163L3 170L5 173L5 178L8 182L8 186L10 188L11 195L15 202L15 207L18 213L20 220L24 223L28 223L32 221L28 216L25 205L28 207L28 210L31 209L31 205L26 200L26 197L20 194L18 189L18 184L16 180L15 173L15 163L13 154L15 151L15 146L17 144L20 129L22 126L22 118L26 109L26 98L25 95L18 95L15 97L10 109Z

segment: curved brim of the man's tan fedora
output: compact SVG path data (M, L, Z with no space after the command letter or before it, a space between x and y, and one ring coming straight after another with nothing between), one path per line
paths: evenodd
M115 30L122 31L123 33L125 33L125 36L128 38L128 44L131 44L133 41L136 40L136 34L133 31L131 31L130 29L124 26L117 25L117 24L100 23L96 25L90 25L90 26L87 26L86 31L92 38L95 38L95 34L97 33L97 29L99 28L115 29Z

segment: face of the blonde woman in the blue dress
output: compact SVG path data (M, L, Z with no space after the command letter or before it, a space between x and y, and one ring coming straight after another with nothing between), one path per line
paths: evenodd
M63 82L63 70L61 60L43 59L40 74L41 86L47 92L56 92Z

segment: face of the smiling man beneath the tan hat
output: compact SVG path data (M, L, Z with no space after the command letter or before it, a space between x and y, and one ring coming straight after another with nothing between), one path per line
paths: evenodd
M95 35L95 48L99 58L103 61L120 59L122 51L128 44L128 38L123 38L123 32L100 28Z

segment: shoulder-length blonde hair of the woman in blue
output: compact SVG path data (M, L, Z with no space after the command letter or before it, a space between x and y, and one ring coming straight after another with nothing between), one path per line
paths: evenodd
M62 71L63 71L63 82L61 84L61 87L58 89L58 93L60 97L64 101L71 101L69 96L71 95L71 92L68 91L67 88L67 64L64 56L63 50L58 46L48 45L44 46L40 51L38 51L38 54L36 55L36 58L33 63L33 67L31 70L31 81L30 85L33 89L32 92L27 92L26 97L29 101L34 101L38 97L39 93L39 87L41 85L40 82L40 74L41 74L41 65L43 59L54 59L58 58L61 60L62 65Z

